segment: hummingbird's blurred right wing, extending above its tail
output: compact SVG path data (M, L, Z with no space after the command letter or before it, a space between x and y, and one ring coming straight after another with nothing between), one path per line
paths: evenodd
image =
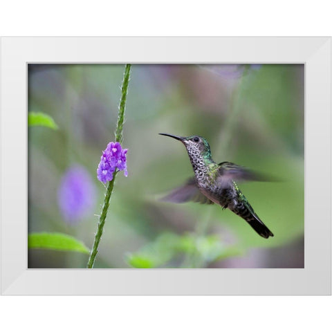
M250 169L224 161L219 165L217 181L221 187L227 187L230 181L275 181L273 178L253 172Z

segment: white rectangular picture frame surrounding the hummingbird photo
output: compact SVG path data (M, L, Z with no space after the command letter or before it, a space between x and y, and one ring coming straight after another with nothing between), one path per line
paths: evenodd
M304 268L28 269L28 63L304 64ZM1 294L331 294L331 38L3 37Z

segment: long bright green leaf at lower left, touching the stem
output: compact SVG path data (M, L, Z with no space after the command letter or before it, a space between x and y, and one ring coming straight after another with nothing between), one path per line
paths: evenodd
M40 248L62 251L76 251L89 254L89 248L84 243L62 233L30 233L28 234L28 248Z

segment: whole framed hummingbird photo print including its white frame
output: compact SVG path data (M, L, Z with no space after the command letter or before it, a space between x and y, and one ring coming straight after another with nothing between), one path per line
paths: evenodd
M331 293L331 38L1 39L1 293Z

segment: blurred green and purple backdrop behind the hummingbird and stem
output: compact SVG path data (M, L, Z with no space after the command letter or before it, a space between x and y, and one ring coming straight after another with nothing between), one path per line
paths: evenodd
M96 177L114 140L122 64L29 64L28 111L59 129L28 129L28 232L70 234L91 248L105 188ZM303 268L304 66L135 64L120 172L95 268ZM239 187L275 237L217 205L160 198L192 176L185 148L208 139L231 161L280 179ZM85 268L78 252L29 249L29 268Z

